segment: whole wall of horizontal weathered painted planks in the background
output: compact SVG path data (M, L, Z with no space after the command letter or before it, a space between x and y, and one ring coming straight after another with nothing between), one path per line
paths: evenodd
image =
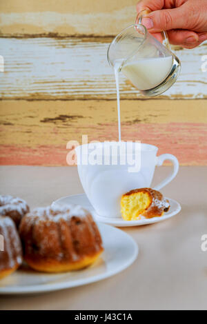
M82 134L117 140L106 49L135 20L136 3L0 1L1 165L66 165L66 144ZM146 100L121 78L122 139L158 145L182 165L207 165L206 45L174 50L182 72L163 96Z

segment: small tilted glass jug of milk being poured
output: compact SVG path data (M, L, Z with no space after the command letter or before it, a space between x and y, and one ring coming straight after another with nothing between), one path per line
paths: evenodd
M144 95L154 97L168 90L179 76L181 63L166 46L157 41L141 24L142 14L134 25L122 30L110 43L108 62Z

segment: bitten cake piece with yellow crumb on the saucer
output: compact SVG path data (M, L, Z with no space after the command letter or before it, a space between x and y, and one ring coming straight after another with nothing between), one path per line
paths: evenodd
M161 192L151 188L131 190L121 197L121 215L126 221L161 216L169 208L170 203Z

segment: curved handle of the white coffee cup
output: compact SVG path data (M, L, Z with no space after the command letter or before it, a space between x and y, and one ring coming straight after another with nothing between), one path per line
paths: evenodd
M167 176L166 179L161 181L161 183L159 183L158 185L155 185L155 187L153 188L155 190L160 190L161 188L164 188L165 185L170 183L170 181L172 181L172 179L175 178L175 176L179 170L179 162L178 162L177 158L172 154L161 154L159 156L156 156L156 158L157 158L157 161L156 161L157 166L163 165L165 160L172 161L172 164L173 164L172 173L169 176Z

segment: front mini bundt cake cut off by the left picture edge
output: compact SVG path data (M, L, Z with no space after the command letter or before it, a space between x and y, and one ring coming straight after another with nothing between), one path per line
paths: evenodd
M21 241L10 217L0 216L0 279L14 272L22 263Z

